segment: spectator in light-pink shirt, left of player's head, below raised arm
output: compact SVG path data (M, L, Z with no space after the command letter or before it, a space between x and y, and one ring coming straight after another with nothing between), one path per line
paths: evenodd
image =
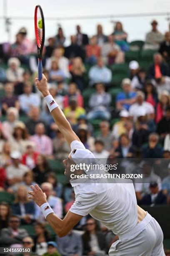
M35 142L36 151L40 154L52 155L52 140L45 135L45 127L43 123L38 123L35 126L35 135L30 137L31 141Z

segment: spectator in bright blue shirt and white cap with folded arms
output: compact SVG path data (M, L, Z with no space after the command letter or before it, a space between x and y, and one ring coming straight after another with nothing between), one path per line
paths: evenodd
M116 109L129 110L130 106L136 101L136 92L132 91L131 81L129 78L124 78L122 80L123 92L117 94L116 97Z

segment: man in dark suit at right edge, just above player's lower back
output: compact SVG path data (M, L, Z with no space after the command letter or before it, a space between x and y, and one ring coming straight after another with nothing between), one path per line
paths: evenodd
M167 197L159 190L158 183L150 183L150 193L144 195L141 205L165 205L167 203Z

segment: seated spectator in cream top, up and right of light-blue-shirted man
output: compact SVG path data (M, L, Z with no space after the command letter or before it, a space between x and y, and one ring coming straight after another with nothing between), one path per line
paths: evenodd
M108 42L102 45L101 56L105 64L118 64L125 62L124 52L120 50L120 46L115 44L114 36L108 36Z

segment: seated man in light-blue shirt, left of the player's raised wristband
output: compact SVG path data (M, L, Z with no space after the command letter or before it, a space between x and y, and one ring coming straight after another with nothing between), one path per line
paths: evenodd
M19 96L20 108L27 114L32 106L40 107L40 96L32 92L32 85L29 82L24 85L23 90L24 93Z

